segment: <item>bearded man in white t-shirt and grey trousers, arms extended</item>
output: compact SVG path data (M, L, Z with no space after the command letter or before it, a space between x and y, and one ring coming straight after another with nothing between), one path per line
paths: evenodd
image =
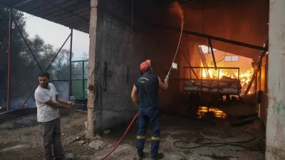
M40 122L44 159L52 160L53 154L56 160L72 159L71 157L66 157L63 153L61 121L59 119L58 108L71 110L71 105L74 102L63 100L63 98L59 97L56 87L49 81L49 74L47 72L39 73L38 82L40 85L35 91L37 118L38 122ZM53 146L53 151L51 146Z

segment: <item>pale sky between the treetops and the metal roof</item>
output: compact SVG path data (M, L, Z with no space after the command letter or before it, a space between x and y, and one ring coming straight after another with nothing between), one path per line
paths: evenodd
M24 13L26 18L26 31L31 37L38 34L45 43L51 44L54 48L61 48L66 38L71 33L71 29L58 23L47 21L43 18ZM70 39L66 41L64 49L70 49ZM89 51L89 35L73 29L73 60L83 59L83 53Z

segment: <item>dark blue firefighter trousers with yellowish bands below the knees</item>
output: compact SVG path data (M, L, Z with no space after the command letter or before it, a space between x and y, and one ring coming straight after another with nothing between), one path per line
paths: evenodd
M144 149L148 121L150 121L152 130L150 156L156 156L160 146L160 110L155 107L138 109L137 149Z

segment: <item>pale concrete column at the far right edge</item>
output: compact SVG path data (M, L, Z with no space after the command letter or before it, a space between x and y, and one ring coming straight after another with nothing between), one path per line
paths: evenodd
M271 0L269 9L269 104L266 160L285 159L285 1Z

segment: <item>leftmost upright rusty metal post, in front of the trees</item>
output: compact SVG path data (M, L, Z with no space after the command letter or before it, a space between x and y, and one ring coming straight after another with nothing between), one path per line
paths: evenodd
M9 11L9 50L8 50L8 78L7 78L7 112L10 110L10 72L11 72L11 44L12 43L12 8Z

